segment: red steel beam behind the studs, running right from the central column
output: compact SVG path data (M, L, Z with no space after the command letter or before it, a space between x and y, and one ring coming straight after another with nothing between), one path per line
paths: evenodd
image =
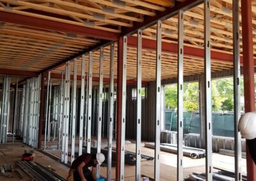
M134 36L130 36L127 41L129 47L137 47L137 38ZM148 40L143 38L142 40L142 48L146 50L156 50L156 41ZM178 45L175 43L166 43L162 42L162 52L176 54L177 55ZM194 48L184 46L184 55L189 55L191 57L204 57L204 49ZM211 59L216 61L226 61L233 62L232 54L225 54L222 52L216 52L214 50L211 51ZM241 64L243 64L243 57L240 57ZM256 65L256 59L253 59L254 64Z

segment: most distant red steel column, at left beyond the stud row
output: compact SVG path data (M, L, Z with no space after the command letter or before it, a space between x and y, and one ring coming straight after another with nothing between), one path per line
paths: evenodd
M37 148L41 149L42 143L42 131L43 131L43 122L44 122L44 78L45 75L42 74L41 78L41 91L40 91L40 119L39 119L39 129L38 129L38 145Z

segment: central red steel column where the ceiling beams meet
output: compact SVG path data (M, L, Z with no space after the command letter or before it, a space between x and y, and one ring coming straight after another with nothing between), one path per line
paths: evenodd
M116 180L120 178L121 162L123 44L123 38L120 38L117 45Z

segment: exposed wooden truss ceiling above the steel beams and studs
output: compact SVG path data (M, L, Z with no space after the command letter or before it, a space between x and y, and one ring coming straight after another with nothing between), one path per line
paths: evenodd
M255 16L256 0L252 4L253 16ZM125 28L143 22L145 17L154 17L170 6L175 6L175 2L167 0L0 0L0 11L90 27L111 33L122 33ZM203 8L203 4L201 4L184 13L184 46L186 47L198 50L204 48ZM162 31L164 43L177 45L177 21L177 16L164 20ZM255 29L256 20L253 18L253 34L256 34ZM156 40L156 25L143 30L143 38ZM1 22L0 68L44 71L79 54L79 52L99 45L100 42L102 40L98 38L81 34ZM253 38L253 42L255 45L255 38ZM232 0L211 1L211 46L214 52L232 55ZM255 48L254 46L253 50L256 54ZM116 45L115 50L117 50ZM108 77L109 47L104 48L104 54L104 75ZM156 52L143 48L142 54L143 80L154 80ZM162 78L177 77L177 53L170 50L164 51L162 55ZM127 79L136 80L135 47L128 48L127 58ZM115 55L115 76L116 61ZM212 71L231 69L232 60L212 59L211 66ZM78 73L81 73L81 59L79 59L78 67ZM54 71L61 72L64 69L65 67L61 66ZM88 56L86 56L87 71ZM184 75L189 76L203 72L204 58L202 56L195 57L187 52L184 56ZM93 52L93 75L99 76L99 51Z

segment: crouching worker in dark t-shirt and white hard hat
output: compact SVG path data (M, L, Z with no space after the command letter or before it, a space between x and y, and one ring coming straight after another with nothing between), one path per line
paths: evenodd
M104 154L83 154L73 161L68 172L67 181L95 181L97 164L105 160ZM92 171L89 169L92 166Z

